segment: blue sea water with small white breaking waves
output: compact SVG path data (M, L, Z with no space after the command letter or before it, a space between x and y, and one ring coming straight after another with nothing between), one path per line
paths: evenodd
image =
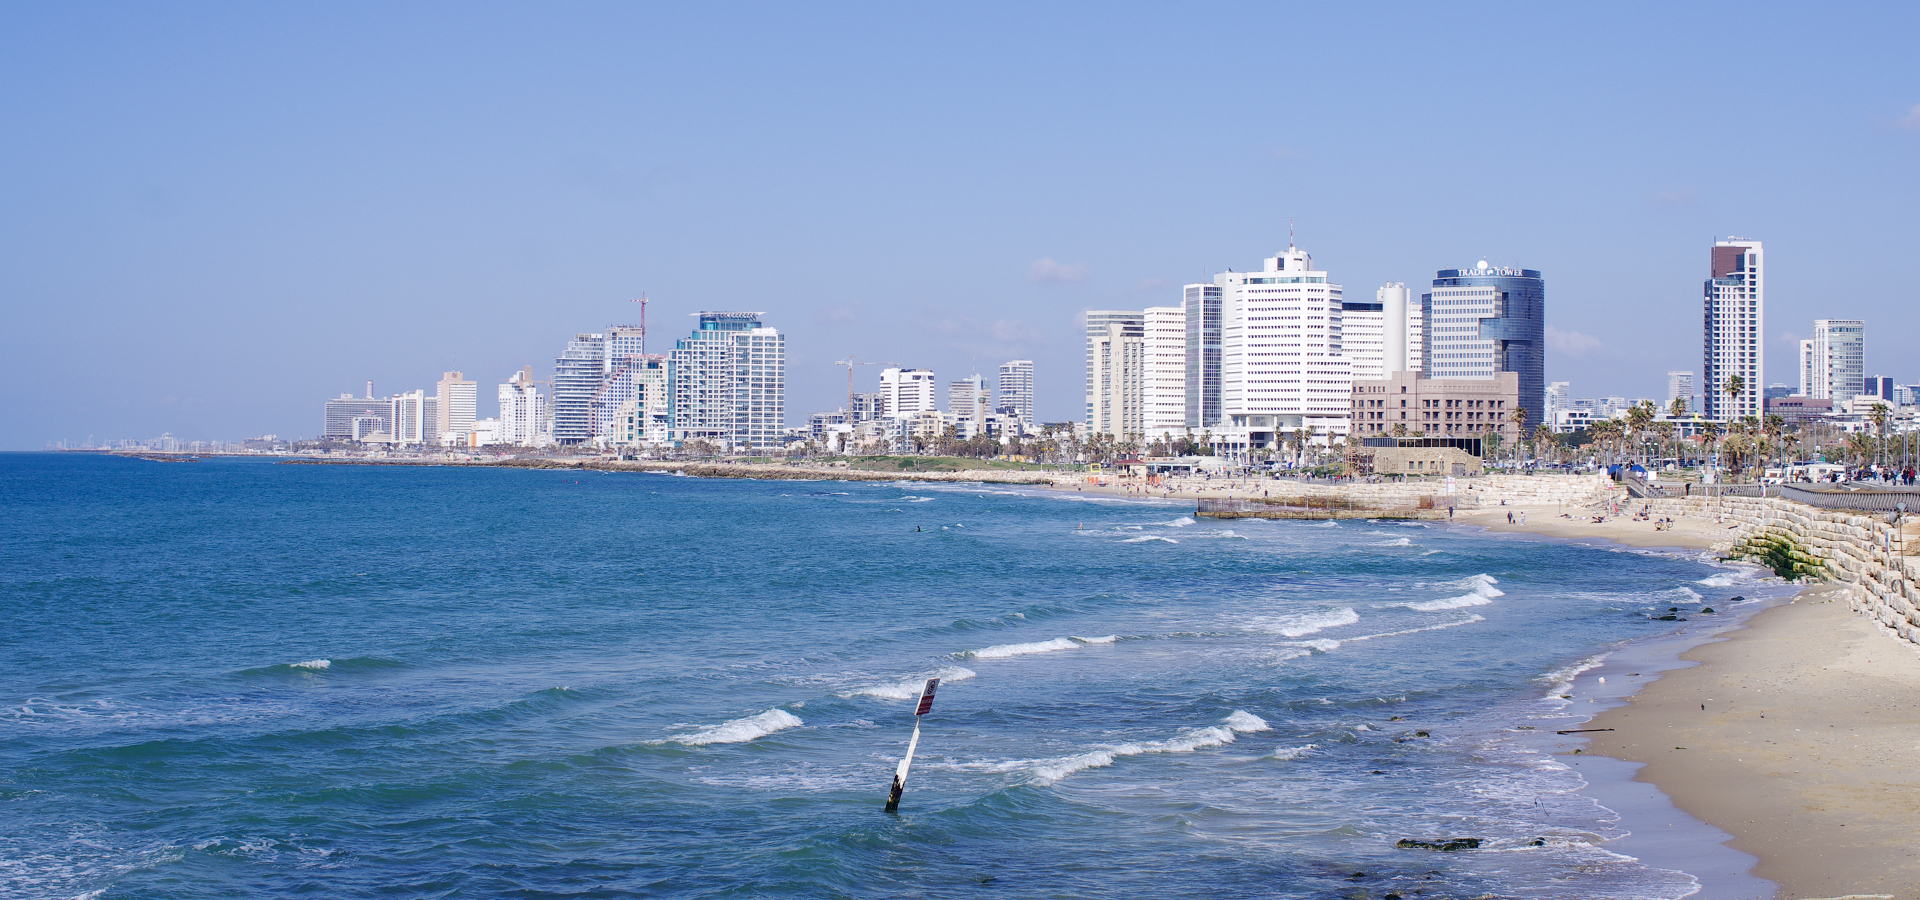
M0 509L8 896L1676 898L1534 735L1757 595L1000 486L0 455Z

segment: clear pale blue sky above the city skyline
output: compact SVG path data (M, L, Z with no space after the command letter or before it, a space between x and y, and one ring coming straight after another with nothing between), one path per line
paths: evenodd
M1916 4L0 4L0 449L313 436L338 393L551 376L701 309L835 359L1037 365L1087 309L1302 249L1371 299L1548 280L1548 378L1699 370L1763 240L1766 380L1812 319L1920 382ZM858 367L872 390L879 367Z

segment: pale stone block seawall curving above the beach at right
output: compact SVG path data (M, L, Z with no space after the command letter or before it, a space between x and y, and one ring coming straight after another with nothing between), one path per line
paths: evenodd
M1920 557L1903 557L1901 535L1885 514L1816 509L1778 497L1665 497L1634 501L1655 516L1724 518L1738 526L1716 551L1732 553L1755 539L1789 541L1822 566L1824 578L1847 587L1847 604L1903 641L1920 645ZM1912 549L1912 535L1907 537Z

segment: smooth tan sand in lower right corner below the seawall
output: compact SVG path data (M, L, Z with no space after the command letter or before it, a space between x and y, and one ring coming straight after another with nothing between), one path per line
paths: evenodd
M1734 835L1780 900L1920 896L1920 654L1834 587L1680 654L1594 718L1588 754Z

